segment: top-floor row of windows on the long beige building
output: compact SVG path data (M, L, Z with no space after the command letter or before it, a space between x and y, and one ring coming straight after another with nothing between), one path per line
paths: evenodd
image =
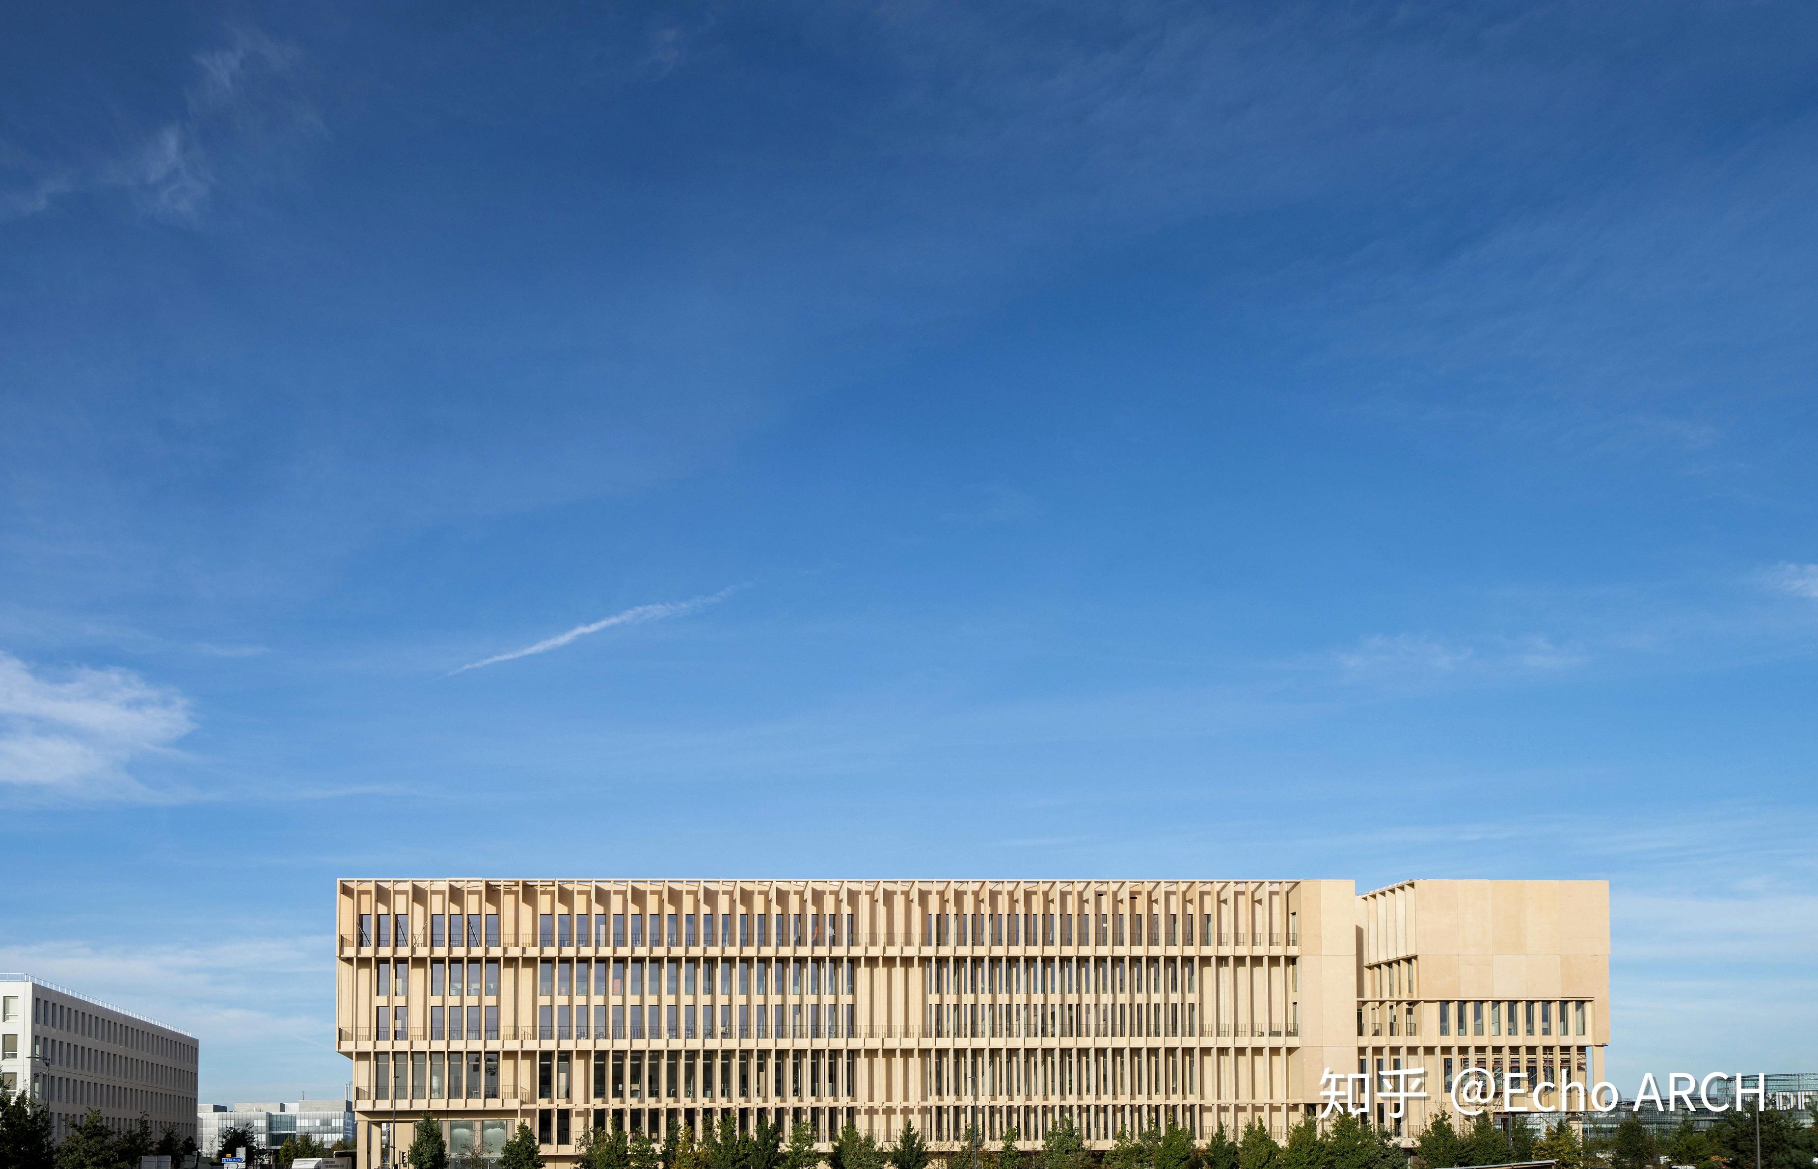
M733 926L738 931L734 935ZM1096 922L1094 922L1096 918ZM1165 933L1164 933L1165 922ZM1200 929L1196 929L1196 922ZM1096 929L1094 929L1096 924ZM736 937L736 942L734 942ZM1214 935L1214 915L1204 913L927 913L924 946L1209 946L1216 937L1229 946L1280 946L1280 926L1267 933ZM607 940L611 938L611 940ZM518 938L529 942L529 938ZM540 913L536 946L854 946L858 938L851 913ZM1289 946L1300 944L1296 913L1287 915ZM411 933L409 913L362 913L360 946L411 946L427 942L444 948L498 946L496 913L431 913L427 938ZM914 938L904 938L913 944Z

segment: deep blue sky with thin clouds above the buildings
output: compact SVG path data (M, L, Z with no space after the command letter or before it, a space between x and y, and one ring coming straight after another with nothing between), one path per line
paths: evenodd
M1818 11L533 13L13 15L0 969L273 1098L344 875L1596 877L1813 1066Z

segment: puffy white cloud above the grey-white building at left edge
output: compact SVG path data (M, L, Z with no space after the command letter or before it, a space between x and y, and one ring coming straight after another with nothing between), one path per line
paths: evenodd
M189 701L129 670L53 681L0 653L0 784L40 793L147 793L129 771L195 730Z

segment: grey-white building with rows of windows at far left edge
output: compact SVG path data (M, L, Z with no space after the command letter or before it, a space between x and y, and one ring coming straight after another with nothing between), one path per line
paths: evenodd
M198 1046L160 1022L33 978L0 975L0 1086L31 1091L62 1138L89 1109L111 1129L196 1135Z

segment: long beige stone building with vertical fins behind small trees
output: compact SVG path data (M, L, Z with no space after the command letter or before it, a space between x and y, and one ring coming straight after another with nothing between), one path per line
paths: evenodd
M342 880L336 913L362 1167L424 1116L551 1164L720 1116L1282 1135L1353 1073L1429 1095L1369 1105L1411 1138L1463 1067L1587 1086L1609 1042L1594 880Z

